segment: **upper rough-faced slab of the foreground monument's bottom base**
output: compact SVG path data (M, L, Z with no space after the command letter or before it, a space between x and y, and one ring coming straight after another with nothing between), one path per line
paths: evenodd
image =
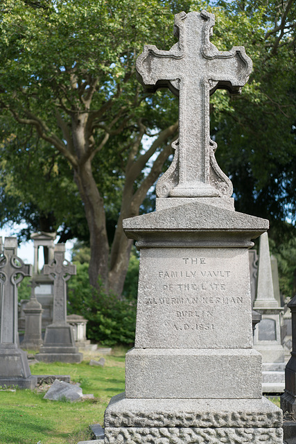
M107 427L270 427L283 424L283 412L260 399L132 399L114 396L105 410ZM250 441L251 442L251 441Z

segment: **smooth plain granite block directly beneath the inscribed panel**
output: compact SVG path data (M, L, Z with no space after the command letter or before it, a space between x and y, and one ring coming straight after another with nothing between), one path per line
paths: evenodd
M127 398L261 398L253 349L138 349L125 356Z

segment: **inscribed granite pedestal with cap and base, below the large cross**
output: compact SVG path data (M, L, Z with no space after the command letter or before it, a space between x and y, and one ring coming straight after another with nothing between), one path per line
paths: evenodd
M140 250L137 327L105 444L282 444L252 348L248 248L268 222L211 199L173 200L123 222Z

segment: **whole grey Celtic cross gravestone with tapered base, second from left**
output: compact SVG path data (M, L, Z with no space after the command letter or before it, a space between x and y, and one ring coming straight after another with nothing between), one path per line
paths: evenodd
M76 266L64 259L65 246L55 246L54 260L44 265L44 274L53 280L53 323L45 330L44 343L38 361L76 362L82 361L82 353L75 345L73 329L67 324L67 280L76 274Z

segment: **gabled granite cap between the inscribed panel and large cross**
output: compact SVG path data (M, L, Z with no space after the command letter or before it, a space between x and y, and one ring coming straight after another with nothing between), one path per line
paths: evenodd
M217 241L218 238L221 243L225 235L227 238L235 235L236 239L233 239L233 244L241 243L241 246L250 247L253 245L250 239L258 237L268 228L267 219L227 210L216 205L200 203L198 200L123 221L125 234L140 241L138 246L144 246L148 239L155 243L157 235L162 237L162 241L165 241L168 236L172 236L172 233L179 234L179 237L183 235L183 238L185 235L187 239L191 233L197 235L202 233L203 240L200 239L200 241L203 244L207 242L206 234L211 238L208 239L210 244L213 244L213 241ZM218 234L218 238L217 236L213 237L213 234ZM182 239L183 243L184 240ZM157 242L159 244L159 239ZM190 239L190 242L193 246L193 238Z

